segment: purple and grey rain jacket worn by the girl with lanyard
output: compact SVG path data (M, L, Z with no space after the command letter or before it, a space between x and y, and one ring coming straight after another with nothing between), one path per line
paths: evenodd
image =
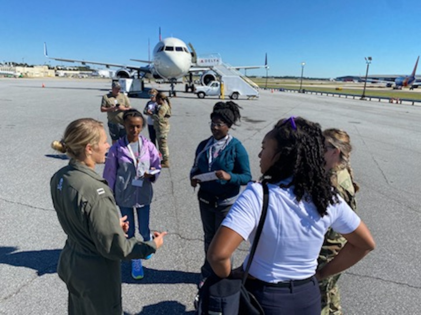
M143 171L148 171L151 167L160 170L161 164L157 148L144 136L139 135L139 138L142 141L140 167ZM155 174L155 177L144 179L143 186L133 186L132 180L136 176L136 169L127 146L127 137L123 137L109 149L103 177L114 192L118 206L139 207L149 205L153 195L152 182L157 179L159 173Z

